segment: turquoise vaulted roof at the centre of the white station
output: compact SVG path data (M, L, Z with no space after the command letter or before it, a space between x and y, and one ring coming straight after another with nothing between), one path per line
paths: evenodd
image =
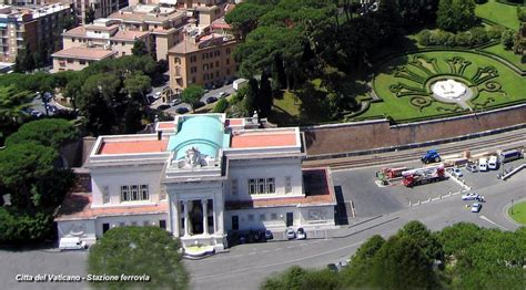
M179 124L178 134L170 137L169 151L176 151L175 159L186 156L186 151L195 147L201 154L218 157L220 148L229 147L230 134L224 133L219 115L189 116Z

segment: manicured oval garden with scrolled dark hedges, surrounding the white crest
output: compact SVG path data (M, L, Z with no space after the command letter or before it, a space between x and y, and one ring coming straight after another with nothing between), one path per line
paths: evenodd
M455 79L473 91L466 106L444 103L431 85ZM471 51L427 51L384 62L373 81L380 99L357 118L390 116L395 121L488 110L526 101L524 79L499 61Z

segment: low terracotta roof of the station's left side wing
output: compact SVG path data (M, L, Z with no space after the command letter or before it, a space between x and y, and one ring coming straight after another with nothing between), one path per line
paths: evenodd
M55 220L90 219L102 216L165 214L168 203L144 206L91 207L91 193L75 193L65 197Z

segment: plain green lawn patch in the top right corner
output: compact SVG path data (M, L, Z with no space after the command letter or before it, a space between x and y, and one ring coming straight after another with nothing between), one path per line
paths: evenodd
M514 30L517 30L519 27L516 7L499 3L496 0L488 0L484 4L477 6L475 13L479 18L497 22Z

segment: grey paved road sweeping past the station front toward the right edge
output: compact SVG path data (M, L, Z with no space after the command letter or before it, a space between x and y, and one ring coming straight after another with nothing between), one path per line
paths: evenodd
M256 289L269 275L299 265L306 268L325 267L346 260L372 235L388 237L409 220L421 220L433 230L469 221L483 227L514 230L518 226L503 216L512 198L526 197L526 172L509 182L479 189L488 203L479 214L464 207L459 196L392 213L357 226L331 232L328 239L243 245L199 261L186 261L192 272L193 289ZM483 219L485 217L486 219ZM495 224L493 224L495 222Z

